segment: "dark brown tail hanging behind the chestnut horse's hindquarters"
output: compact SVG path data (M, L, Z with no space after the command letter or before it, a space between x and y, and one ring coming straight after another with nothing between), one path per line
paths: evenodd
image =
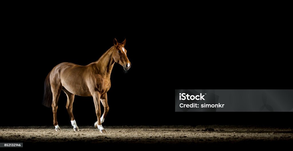
M51 84L50 84L50 73L47 75L45 79L45 84L44 84L44 98L43 98L43 105L50 108L52 107L52 101L53 101L53 94L51 91Z

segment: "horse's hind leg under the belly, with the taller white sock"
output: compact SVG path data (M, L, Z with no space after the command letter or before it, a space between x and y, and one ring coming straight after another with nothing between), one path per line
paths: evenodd
M74 94L70 93L65 88L62 88L62 90L65 92L65 94L67 96L66 108L67 108L67 112L69 114L71 125L73 126L73 130L74 131L79 131L78 126L76 125L76 122L74 120L73 113L72 113L72 105L73 105L73 101L74 101Z

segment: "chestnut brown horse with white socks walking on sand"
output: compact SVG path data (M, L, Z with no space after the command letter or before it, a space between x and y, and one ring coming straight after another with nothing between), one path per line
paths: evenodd
M124 48L126 39L122 43L118 43L114 39L114 46L108 49L98 61L89 65L81 66L69 62L63 62L55 66L45 79L44 100L43 104L52 107L53 124L55 130L60 130L57 122L58 98L61 90L67 95L66 108L71 120L74 131L79 131L72 113L72 104L74 95L92 96L96 108L98 121L95 122L95 128L100 133L105 133L102 126L104 119L109 111L107 91L109 91L111 82L110 75L115 62L123 66L124 70L128 70L131 66ZM101 116L100 101L104 106L104 113Z

